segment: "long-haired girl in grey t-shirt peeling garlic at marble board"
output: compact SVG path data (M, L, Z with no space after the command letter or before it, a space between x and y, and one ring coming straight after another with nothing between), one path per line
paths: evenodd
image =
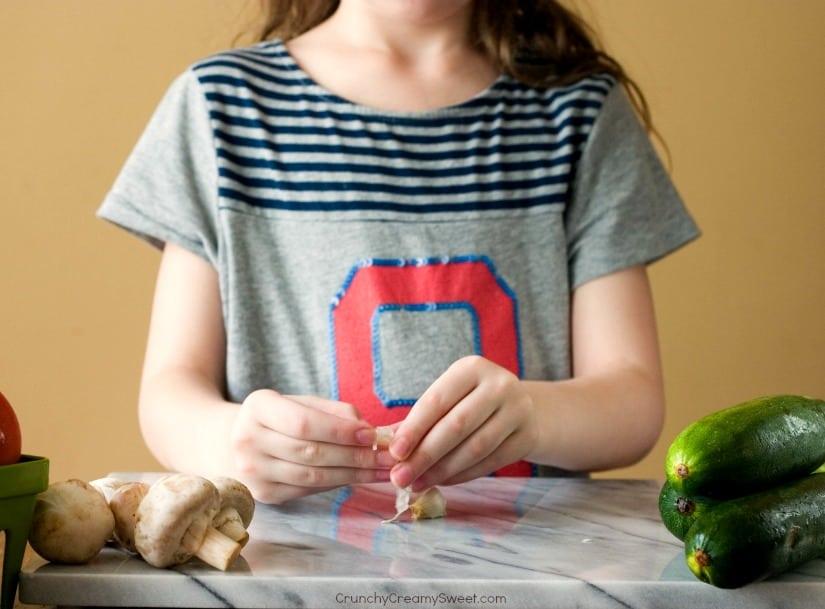
M172 85L99 212L163 249L160 462L280 503L641 458L646 265L697 229L588 29L551 0L271 0L260 32Z

